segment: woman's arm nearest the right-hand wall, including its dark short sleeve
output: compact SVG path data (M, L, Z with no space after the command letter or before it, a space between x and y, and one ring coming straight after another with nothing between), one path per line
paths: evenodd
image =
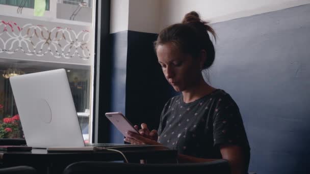
M214 113L214 146L218 146L222 158L229 161L231 173L244 174L248 167L249 144L241 113L229 95L221 99Z

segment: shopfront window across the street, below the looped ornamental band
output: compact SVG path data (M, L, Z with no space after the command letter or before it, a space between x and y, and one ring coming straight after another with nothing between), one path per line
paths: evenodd
M23 133L19 121L16 121L17 125L10 124L14 121L14 115L18 115L18 111L8 77L17 74L28 74L64 68L67 70L73 102L75 105L84 139L89 139L89 96L91 93L91 66L72 66L60 63L46 64L44 62L22 61L13 59L0 59L0 62L0 72L2 75L0 76L0 119L2 120L2 125L0 126L0 134L1 130L5 131L6 128L12 129L12 133L3 132L3 135L2 137L0 135L0 138L23 138Z

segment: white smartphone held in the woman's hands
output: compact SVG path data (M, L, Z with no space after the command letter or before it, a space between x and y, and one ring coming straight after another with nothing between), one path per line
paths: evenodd
M114 126L124 135L126 132L139 132L135 129L135 127L126 119L126 117L121 112L107 112L106 117L114 124Z

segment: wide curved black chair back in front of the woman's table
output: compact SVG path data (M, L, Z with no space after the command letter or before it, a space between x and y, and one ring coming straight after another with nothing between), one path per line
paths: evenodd
M121 172L145 173L197 173L228 174L230 168L227 160L219 159L212 162L182 163L182 164L139 164L99 161L81 161L68 165L63 174L104 174Z

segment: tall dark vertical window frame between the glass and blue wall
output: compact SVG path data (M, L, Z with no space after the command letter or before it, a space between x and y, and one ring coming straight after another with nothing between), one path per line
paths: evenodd
M109 50L111 0L96 0L95 57L93 85L92 142L108 142L108 121L104 115L111 108L111 56Z

